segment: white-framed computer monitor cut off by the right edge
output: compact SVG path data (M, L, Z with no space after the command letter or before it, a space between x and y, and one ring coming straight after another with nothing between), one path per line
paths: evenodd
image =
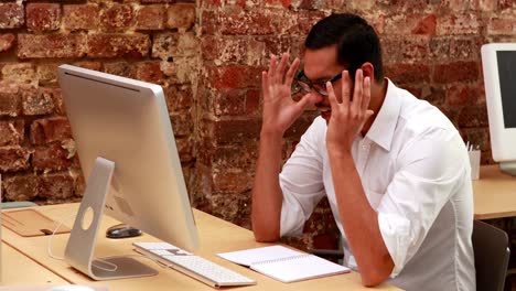
M493 160L516 175L516 43L482 45Z

